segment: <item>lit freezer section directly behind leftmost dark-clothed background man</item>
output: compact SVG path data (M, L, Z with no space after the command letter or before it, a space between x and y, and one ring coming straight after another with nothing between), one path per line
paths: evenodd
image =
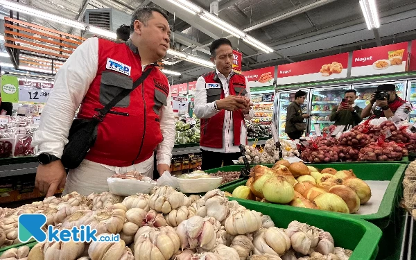
M284 132L286 126L286 114L287 107L295 100L295 93L300 89L281 91L277 93L277 105L278 109L275 113L275 122L277 122L277 129L279 130L279 138L289 139L288 135ZM301 105L304 113L309 113L309 89L301 89L306 92L305 103ZM307 134L307 131L304 132L303 137Z

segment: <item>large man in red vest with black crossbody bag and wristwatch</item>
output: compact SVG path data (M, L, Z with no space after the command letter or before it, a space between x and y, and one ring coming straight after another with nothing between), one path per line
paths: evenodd
M154 150L159 174L169 170L175 122L168 79L155 67L169 47L168 17L157 8L138 8L130 30L126 42L86 40L55 76L33 139L40 148L35 186L46 196L58 187L85 196L108 191L107 177L115 173L138 171L152 177ZM78 118L91 119L123 89L131 89L147 69L152 71L144 83L98 123L94 146L67 177L60 157L78 107Z

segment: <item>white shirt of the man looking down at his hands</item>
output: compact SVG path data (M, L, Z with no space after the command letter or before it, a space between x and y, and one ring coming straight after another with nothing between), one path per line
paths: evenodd
M224 89L224 96L229 96L229 78L231 74L225 78L223 74L221 74L217 69L216 73L218 74L218 78L220 78L221 83L223 84ZM245 86L247 90L247 94L245 94L246 98L251 99L250 95L250 87L248 87L248 80L245 79ZM214 110L214 102L207 103L207 89L205 88L205 78L200 76L198 81L196 82L196 94L195 94L195 114L196 117L200 119L209 119L211 116L214 116L218 113L218 111ZM248 114L246 114L245 119L250 120L254 117L254 110L250 110ZM245 139L247 138L247 132L245 130L245 125L241 123L241 138L240 143L245 144ZM234 146L234 123L232 121L232 112L225 111L224 116L224 128L223 128L223 148L210 148L205 146L200 146L203 150L208 150L211 152L217 153L239 153L240 148L239 146Z

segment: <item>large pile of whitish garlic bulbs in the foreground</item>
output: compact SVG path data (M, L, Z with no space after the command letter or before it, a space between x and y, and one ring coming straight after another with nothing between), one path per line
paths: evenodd
M27 247L12 248L0 259L345 260L352 253L336 248L331 234L317 227L297 221L287 229L275 227L270 216L229 201L219 189L202 197L188 197L172 187L155 187L150 196L138 193L125 198L108 192L87 197L71 193L0 209L1 227L19 214L42 210L51 215L48 219L57 229L92 225L99 235L120 234L121 239L37 243L30 252Z

